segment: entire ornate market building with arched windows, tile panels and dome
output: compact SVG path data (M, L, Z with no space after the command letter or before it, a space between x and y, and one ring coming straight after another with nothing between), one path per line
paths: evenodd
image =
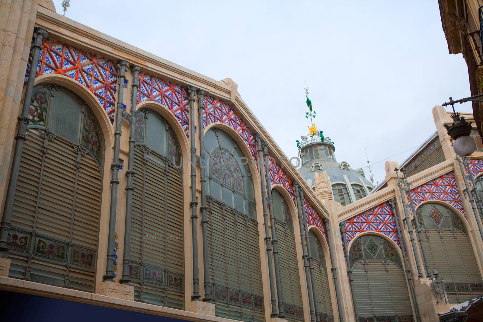
M478 190L483 152L455 159L442 107L407 180L387 162L374 187L313 124L294 168L231 79L80 25L49 0L1 8L0 289L11 301L187 321L435 321L478 308L465 303L483 294L479 195L465 191Z

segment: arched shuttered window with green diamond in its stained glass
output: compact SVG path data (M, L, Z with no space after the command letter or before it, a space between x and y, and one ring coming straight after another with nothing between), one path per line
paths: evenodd
M374 317L375 321L381 321L377 317L414 321L401 258L389 241L375 235L357 238L349 252L349 265L360 321L374 321Z

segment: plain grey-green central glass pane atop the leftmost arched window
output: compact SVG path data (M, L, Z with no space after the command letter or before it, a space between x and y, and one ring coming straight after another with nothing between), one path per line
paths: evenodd
M47 127L56 135L79 143L79 129L82 104L77 97L66 90L56 92L50 105Z

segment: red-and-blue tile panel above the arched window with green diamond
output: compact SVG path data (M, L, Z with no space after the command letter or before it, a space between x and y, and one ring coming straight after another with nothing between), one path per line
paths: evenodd
M396 228L396 218L389 202L371 208L345 221L345 238L347 245L358 234L365 231L375 231L394 240L400 247Z

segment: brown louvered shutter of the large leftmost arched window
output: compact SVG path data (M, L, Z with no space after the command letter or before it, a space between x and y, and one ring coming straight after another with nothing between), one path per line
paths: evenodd
M100 191L89 152L28 129L9 232L10 276L93 292Z

